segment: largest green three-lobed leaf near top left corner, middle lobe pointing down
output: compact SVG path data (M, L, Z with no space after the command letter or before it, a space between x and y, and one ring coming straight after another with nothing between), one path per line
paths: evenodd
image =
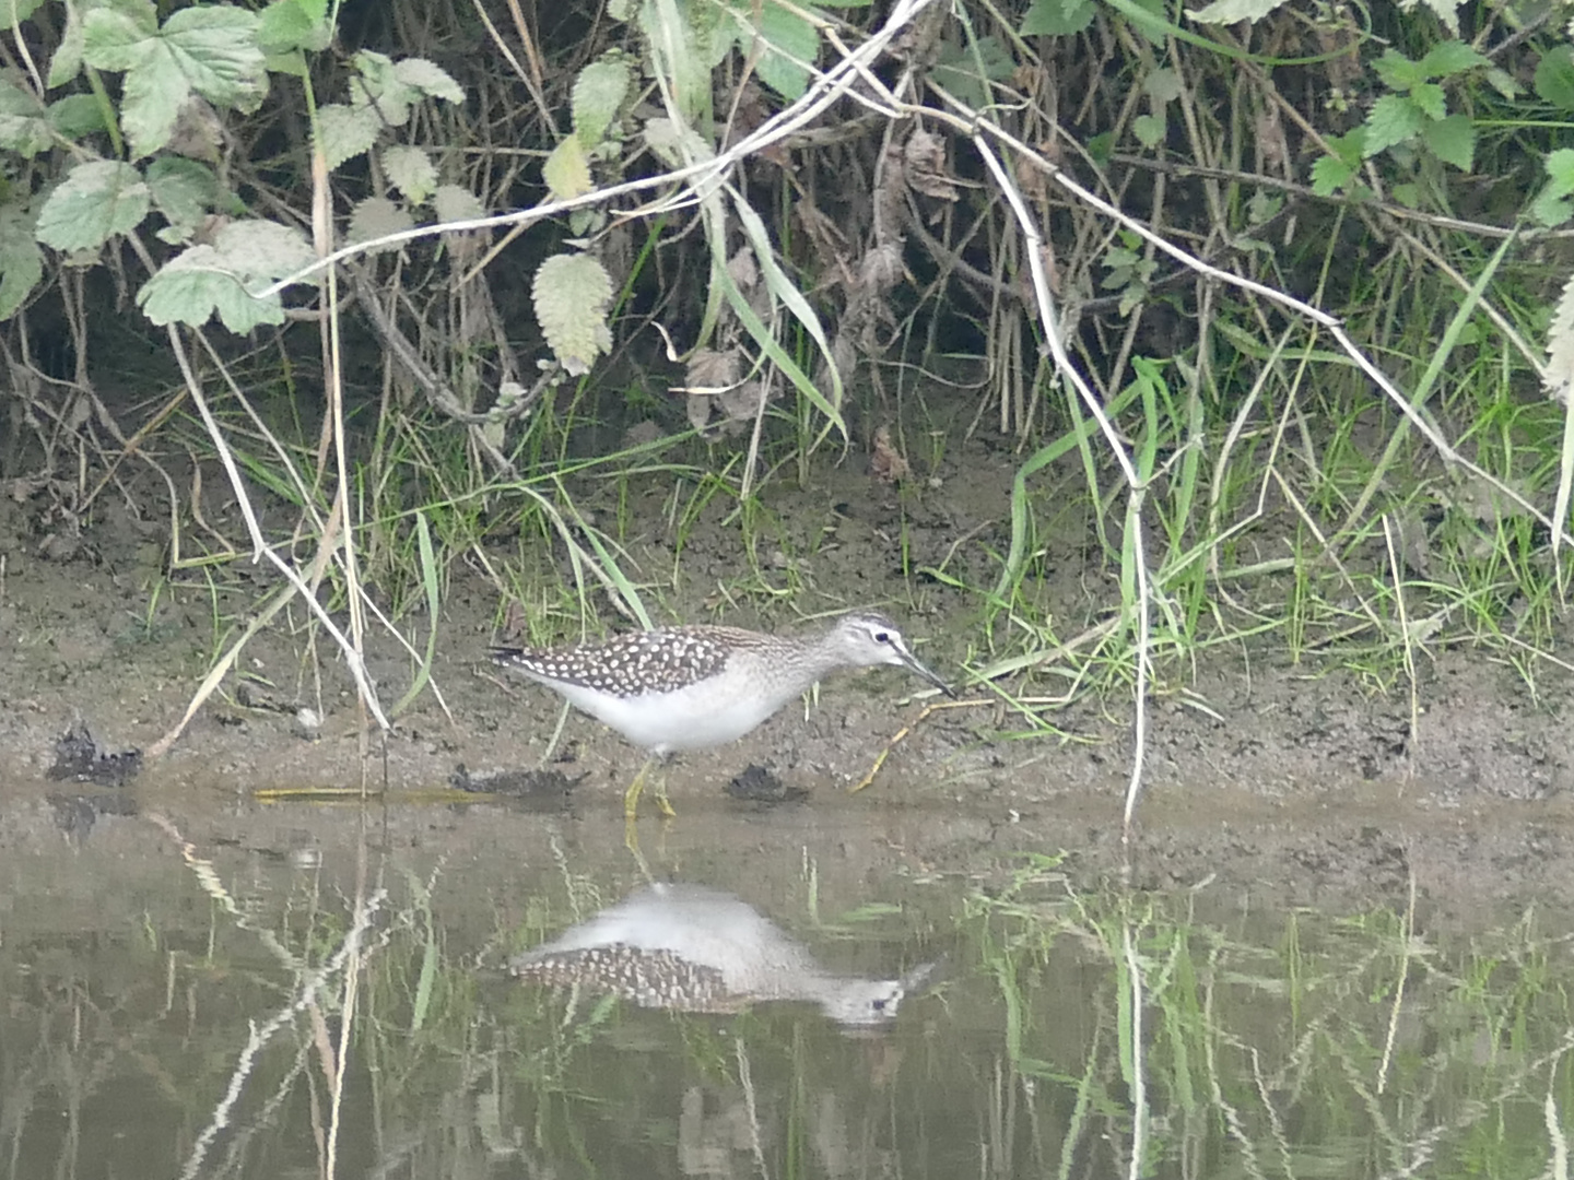
M192 91L236 110L255 110L268 93L257 17L241 8L183 8L162 28L148 9L94 8L83 17L82 60L124 71L120 118L137 156L168 143Z

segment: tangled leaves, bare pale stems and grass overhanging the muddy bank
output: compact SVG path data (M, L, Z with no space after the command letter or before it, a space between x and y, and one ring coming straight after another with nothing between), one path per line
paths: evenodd
M116 488L172 577L261 555L201 695L299 596L379 724L425 673L379 700L367 629L430 618L430 662L456 563L540 634L648 621L663 576L587 488L666 486L678 533L727 505L757 566L779 483L853 453L916 500L982 437L1009 513L903 573L1025 728L1122 688L1141 733L1155 678L1248 639L1535 686L1568 667L1568 17L13 0L0 475L42 546ZM1107 574L1070 625L1067 532Z

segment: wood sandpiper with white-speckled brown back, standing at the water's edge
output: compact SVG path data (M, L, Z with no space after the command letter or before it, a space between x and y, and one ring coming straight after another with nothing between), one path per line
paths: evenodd
M807 637L733 626L666 626L570 648L493 648L493 659L562 694L652 758L623 796L633 818L650 761L724 746L841 669L894 664L955 695L878 612L842 615ZM658 804L672 815L666 787Z

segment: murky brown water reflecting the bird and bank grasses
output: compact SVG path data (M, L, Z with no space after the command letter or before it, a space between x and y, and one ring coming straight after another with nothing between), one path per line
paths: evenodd
M606 795L132 791L0 791L6 1180L1561 1174L1574 925L1453 887L1447 821L1273 879L1272 815L1234 862L1151 823L1125 889L1086 809L918 790L694 802L642 859Z

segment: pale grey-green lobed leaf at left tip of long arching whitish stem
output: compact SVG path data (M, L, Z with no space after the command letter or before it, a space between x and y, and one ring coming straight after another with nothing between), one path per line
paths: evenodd
M249 288L310 266L315 260L305 238L277 222L231 222L212 245L194 245L172 258L137 293L137 305L154 324L181 323L198 327L217 312L219 323L236 335L260 324L282 324L283 301L275 294L258 299Z

